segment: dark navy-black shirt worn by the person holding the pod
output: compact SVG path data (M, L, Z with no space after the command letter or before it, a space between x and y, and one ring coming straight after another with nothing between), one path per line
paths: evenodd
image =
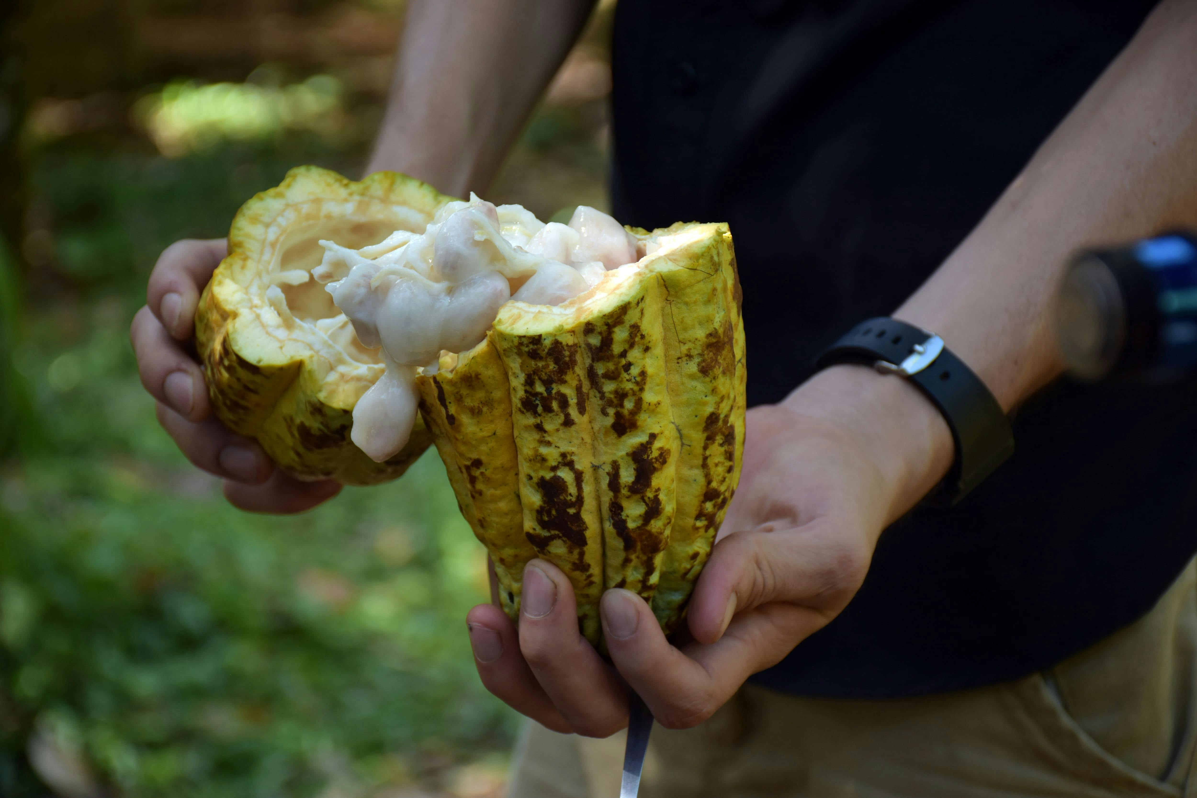
M614 212L730 224L749 404L776 402L918 288L1153 5L620 0ZM1146 613L1197 550L1197 389L1059 383L1015 437L961 505L887 530L847 609L755 680L976 687Z

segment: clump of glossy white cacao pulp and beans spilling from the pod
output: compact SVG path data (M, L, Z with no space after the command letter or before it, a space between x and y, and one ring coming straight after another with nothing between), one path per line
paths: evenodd
M358 250L320 243L324 258L312 276L387 365L353 408L351 435L378 462L407 444L419 407L415 376L435 368L442 351L481 342L509 300L559 305L643 254L601 211L579 206L569 225L543 224L518 205L496 207L473 194L440 208L424 233L400 230Z

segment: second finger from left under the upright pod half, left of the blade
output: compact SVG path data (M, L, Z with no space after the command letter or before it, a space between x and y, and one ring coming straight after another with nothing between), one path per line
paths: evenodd
M575 732L608 737L627 725L627 690L578 632L569 578L545 560L524 567L519 650Z

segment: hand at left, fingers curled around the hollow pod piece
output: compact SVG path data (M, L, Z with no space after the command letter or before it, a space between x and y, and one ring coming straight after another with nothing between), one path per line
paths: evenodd
M203 372L188 352L200 292L225 256L225 239L181 240L158 258L146 306L133 317L129 336L141 384L158 400L158 422L187 458L224 477L225 498L254 512L300 512L341 489L338 482L300 482L281 470L256 441L236 435L211 418Z

